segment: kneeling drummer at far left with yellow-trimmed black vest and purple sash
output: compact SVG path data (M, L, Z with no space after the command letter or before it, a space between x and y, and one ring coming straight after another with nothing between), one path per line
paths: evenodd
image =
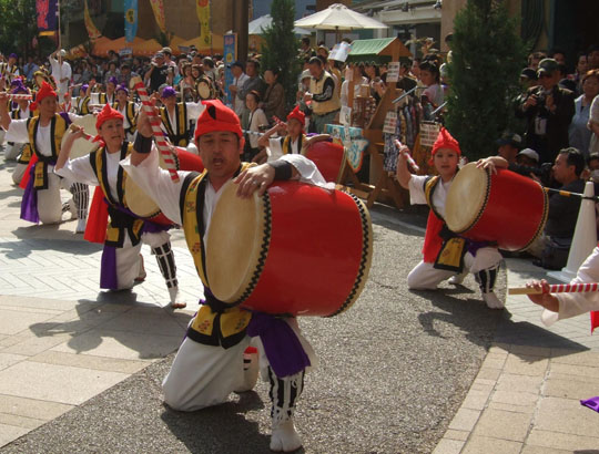
M79 223L77 233L85 229L89 189L85 185L62 179L54 175L55 159L60 153L62 136L69 123L81 118L72 113L57 113L57 93L47 82L42 82L35 102L30 109L38 110L32 118L11 120L6 93L0 93L0 123L7 130L7 140L29 143L38 158L32 166L31 178L21 203L21 219L32 223L57 224L62 217L61 185L73 194ZM53 133L53 134L52 134Z

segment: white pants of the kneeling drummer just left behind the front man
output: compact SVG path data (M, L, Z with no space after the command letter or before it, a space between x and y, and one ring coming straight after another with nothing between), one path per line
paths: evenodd
M142 244L155 248L169 243L170 238L171 236L166 231L143 234L141 241L133 246L129 234L125 234L123 247L116 248L116 289L125 290L132 288L135 278L140 276L140 251Z

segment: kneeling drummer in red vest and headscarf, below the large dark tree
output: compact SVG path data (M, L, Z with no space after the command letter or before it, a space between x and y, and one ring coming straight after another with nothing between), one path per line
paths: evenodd
M451 182L458 172L461 155L459 144L441 127L432 149L432 164L438 176L413 175L408 171L407 147L400 149L397 162L397 179L409 189L412 204L427 204L430 214L426 226L423 260L409 272L408 287L415 290L434 290L449 279L461 283L467 272L473 272L480 287L483 299L491 309L502 309L504 303L494 292L497 269L502 260L496 246L460 238L445 224L445 200ZM493 162L485 162L493 166ZM464 200L467 203L467 200Z

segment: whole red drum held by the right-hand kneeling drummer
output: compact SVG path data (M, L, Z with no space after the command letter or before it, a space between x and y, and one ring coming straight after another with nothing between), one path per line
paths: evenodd
M470 163L451 182L445 220L466 238L522 250L542 231L548 209L547 194L534 179L501 168L491 175Z

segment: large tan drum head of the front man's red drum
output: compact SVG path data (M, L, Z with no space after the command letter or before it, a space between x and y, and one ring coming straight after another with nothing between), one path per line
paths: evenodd
M206 241L210 289L224 302L238 301L256 283L260 277L260 269L256 269L267 235L263 198L256 193L248 199L240 198L236 190L237 185L233 182L223 188ZM256 272L258 275L254 276Z

